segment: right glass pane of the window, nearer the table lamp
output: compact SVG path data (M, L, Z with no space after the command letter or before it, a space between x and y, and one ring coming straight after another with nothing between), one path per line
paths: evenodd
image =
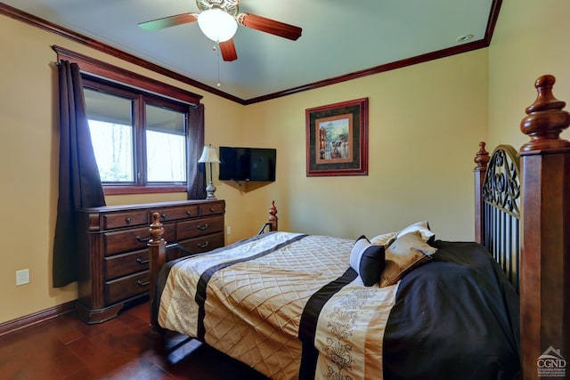
M186 182L186 117L150 104L146 109L146 156L149 182Z

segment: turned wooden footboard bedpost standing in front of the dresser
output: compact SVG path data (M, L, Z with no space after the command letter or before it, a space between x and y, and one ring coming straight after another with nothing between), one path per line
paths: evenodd
M162 223L159 222L160 214L152 214L152 224L149 232L151 233L151 240L149 240L149 277L151 280L150 289L150 304L151 304L151 327L155 330L159 329L159 323L155 318L153 312L153 304L156 297L157 279L159 278L159 271L162 265L167 263L167 241L162 238L164 228Z

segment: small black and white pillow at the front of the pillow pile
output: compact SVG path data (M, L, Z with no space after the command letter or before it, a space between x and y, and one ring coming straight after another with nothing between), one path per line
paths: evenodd
M365 287L378 284L384 270L384 247L372 246L364 235L356 240L350 253L350 266L362 279Z

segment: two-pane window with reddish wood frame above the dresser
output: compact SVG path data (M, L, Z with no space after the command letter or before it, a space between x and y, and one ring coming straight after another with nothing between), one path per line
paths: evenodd
M191 105L87 75L83 82L105 193L186 190Z

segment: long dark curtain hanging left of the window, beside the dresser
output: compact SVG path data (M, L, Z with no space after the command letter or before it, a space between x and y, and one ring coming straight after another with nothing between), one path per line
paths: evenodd
M85 99L79 67L61 61L60 177L57 220L53 241L53 287L77 280L77 218L82 207L105 206L101 177L95 161L85 116Z

